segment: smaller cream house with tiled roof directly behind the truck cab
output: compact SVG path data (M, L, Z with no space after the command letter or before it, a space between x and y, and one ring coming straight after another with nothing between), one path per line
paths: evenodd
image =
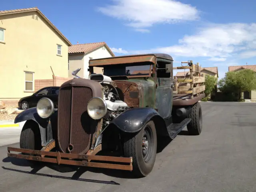
M89 77L89 60L106 57L114 57L114 53L110 50L105 42L75 44L68 47L68 77L72 78L72 71L81 68L77 74L82 78ZM102 74L102 68L94 67L95 73Z

